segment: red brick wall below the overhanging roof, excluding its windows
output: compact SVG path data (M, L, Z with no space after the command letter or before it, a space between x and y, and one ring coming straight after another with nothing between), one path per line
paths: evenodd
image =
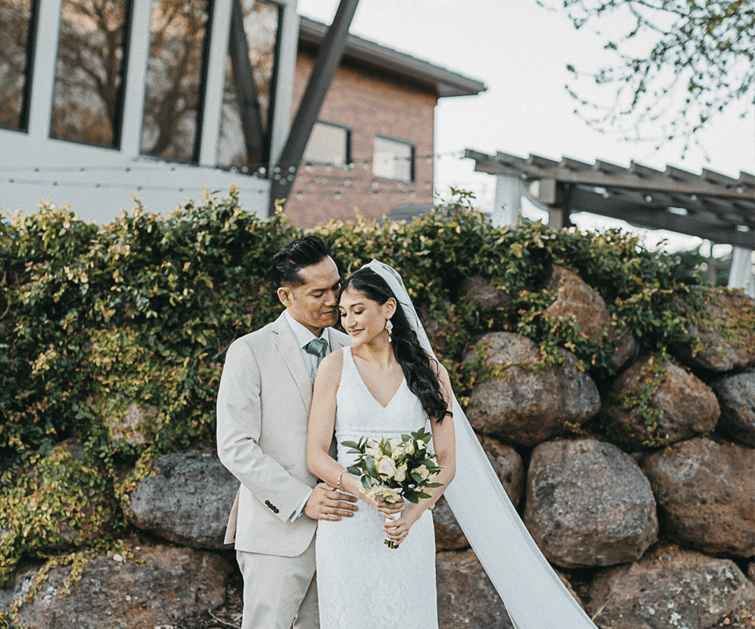
M299 50L294 83L295 115L315 62L315 53ZM356 211L382 218L407 203L432 203L434 114L437 97L401 77L344 61L336 72L319 119L351 129L353 168L302 166L285 206L298 227L332 219L352 221ZM372 144L384 135L414 144L414 182L373 177Z

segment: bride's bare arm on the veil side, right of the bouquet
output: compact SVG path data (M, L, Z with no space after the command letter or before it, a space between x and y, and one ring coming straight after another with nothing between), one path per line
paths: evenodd
M440 391L449 411L453 410L453 397L451 394L451 381L448 372L441 364L437 364ZM417 504L407 504L401 517L395 522L386 522L383 529L387 536L400 543L408 535L412 525L419 520L426 509L431 509L437 500L443 495L446 487L456 475L456 439L454 436L454 421L451 414L438 421L435 417L430 422L433 432L433 448L438 457L438 466L441 468L433 482L440 483L440 487L423 489L429 498L421 499Z

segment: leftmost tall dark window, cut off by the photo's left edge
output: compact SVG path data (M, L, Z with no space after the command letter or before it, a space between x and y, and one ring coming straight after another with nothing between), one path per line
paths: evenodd
M0 125L26 130L31 84L32 0L0 2Z

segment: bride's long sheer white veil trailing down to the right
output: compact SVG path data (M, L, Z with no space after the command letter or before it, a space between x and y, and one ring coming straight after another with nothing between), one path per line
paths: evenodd
M365 266L388 283L423 349L435 356L401 276L377 260ZM444 495L512 624L516 629L594 629L519 518L455 395L453 417L456 476Z

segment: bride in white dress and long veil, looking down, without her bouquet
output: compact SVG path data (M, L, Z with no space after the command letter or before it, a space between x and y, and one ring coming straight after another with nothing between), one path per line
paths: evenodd
M365 265L344 283L339 311L353 347L326 357L317 372L307 465L330 486L357 496L360 509L347 521L318 526L321 629L437 629L430 507L441 494L516 629L594 628L506 496L398 273L376 260ZM342 443L400 439L428 421L442 468L433 480L441 486L426 490L430 497L416 505L369 500L346 470L354 455ZM330 455L334 432L337 458Z

